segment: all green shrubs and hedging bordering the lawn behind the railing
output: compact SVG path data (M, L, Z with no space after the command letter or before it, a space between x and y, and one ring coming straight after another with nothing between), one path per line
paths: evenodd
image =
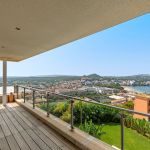
M45 104L40 105L41 109L47 110ZM69 101L51 103L49 112L61 118L66 122L70 122L70 104ZM125 126L136 130L138 133L150 138L150 123L146 120L134 119L132 115L125 114ZM82 125L85 122L94 124L120 123L119 111L105 106L89 104L86 102L75 101L74 103L74 123Z

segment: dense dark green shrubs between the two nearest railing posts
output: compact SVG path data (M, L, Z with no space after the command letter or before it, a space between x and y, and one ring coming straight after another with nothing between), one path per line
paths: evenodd
M75 122L81 123L85 120L92 120L93 123L103 123L103 122L116 122L120 121L117 115L118 111L106 108L105 106L99 106L96 104L89 104L86 102L76 101L74 104L74 115Z

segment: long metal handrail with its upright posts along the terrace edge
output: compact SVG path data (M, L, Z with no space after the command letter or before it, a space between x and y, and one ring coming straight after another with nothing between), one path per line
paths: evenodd
M100 103L100 102L96 102L96 101L86 101L85 99L79 98L79 97L74 97L74 96L69 96L69 95L65 95L65 94L59 94L59 93L55 93L55 92L50 92L48 90L40 90L40 89L36 89L36 88L32 88L32 87L26 87L26 86L19 86L17 85L17 97L18 97L18 88L21 87L24 89L24 103L25 103L25 91L26 89L31 90L33 92L32 96L33 96L33 109L35 108L35 92L39 91L39 92L45 92L46 93L46 99L47 99L47 117L49 117L50 113L49 113L49 94L54 94L54 95L58 95L58 96L62 96L65 98L69 98L70 99L70 111L71 111L71 131L74 130L74 112L73 112L73 107L74 107L74 101L75 100L79 100L82 102L86 102L86 103L90 103L90 104L96 104L96 105L101 105L101 106L105 106L105 107L109 107L109 108L113 108L113 109L117 109L119 111L121 111L120 113L120 124L121 124L121 150L124 150L124 112L128 112L131 114L138 114L138 115L142 115L142 116L146 116L146 117L150 117L150 113L144 113L144 112L138 112L138 111L134 111L134 110L130 110L130 109L126 109L126 108L121 108L121 107L117 107L117 106L113 106L113 105L108 105L108 104L104 104L104 103Z

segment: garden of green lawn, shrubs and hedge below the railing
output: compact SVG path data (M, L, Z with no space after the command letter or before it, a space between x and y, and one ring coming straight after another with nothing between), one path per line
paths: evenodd
M39 107L47 111L46 104ZM52 102L49 112L65 122L70 123L70 102ZM120 148L120 112L113 108L74 102L74 124L90 135ZM150 147L150 123L146 120L135 119L125 114L125 149L147 150Z

